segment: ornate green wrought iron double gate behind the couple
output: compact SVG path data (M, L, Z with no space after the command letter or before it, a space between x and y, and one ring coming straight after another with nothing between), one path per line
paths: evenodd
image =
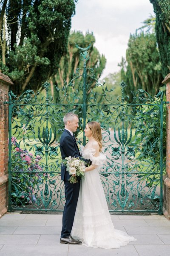
M162 213L163 94L152 98L144 90L113 102L108 90L86 69L88 48L81 49L83 68L69 84L56 87L57 98L45 82L44 96L27 90L9 93L9 211L62 211L59 137L68 111L79 115L78 143L85 144L87 121L100 122L107 163L100 177L110 211ZM83 142L82 142L83 139Z

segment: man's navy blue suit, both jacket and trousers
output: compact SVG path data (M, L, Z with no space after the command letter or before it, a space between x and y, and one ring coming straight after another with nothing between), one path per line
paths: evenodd
M79 148L77 146L76 140L68 130L64 130L61 139L60 139L60 151L62 159L65 157L79 157L82 160L85 160L80 156ZM85 160L88 162L88 160ZM79 187L80 187L80 179L78 179L77 183L70 183L68 180L71 177L68 171L66 170L66 166L61 167L61 179L64 181L65 185L65 207L62 215L62 232L61 237L70 236L74 215L76 212L77 201L79 198Z

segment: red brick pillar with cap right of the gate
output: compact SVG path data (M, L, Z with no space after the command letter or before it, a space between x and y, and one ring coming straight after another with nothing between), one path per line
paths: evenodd
M167 102L170 102L170 73L165 77ZM164 214L170 217L170 104L167 104L167 147L166 147L166 175L164 175Z

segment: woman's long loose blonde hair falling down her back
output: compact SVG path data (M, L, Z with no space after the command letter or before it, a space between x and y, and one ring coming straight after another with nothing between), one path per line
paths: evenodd
M96 121L88 122L88 127L91 129L94 140L99 144L99 151L102 151L102 131L100 124Z

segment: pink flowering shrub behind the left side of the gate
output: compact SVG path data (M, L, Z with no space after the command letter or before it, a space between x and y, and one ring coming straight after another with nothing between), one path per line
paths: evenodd
M15 205L36 202L35 188L44 180L43 173L40 173L43 167L39 163L42 158L40 155L33 157L32 153L20 148L15 137L11 138L11 143L12 201Z

